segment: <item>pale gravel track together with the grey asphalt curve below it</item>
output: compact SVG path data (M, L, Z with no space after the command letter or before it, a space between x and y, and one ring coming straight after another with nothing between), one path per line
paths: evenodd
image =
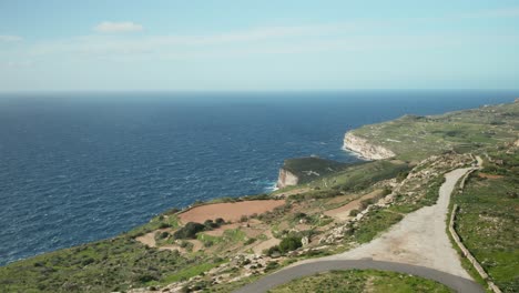
M447 173L435 205L407 214L372 242L342 254L294 263L235 292L266 292L302 276L352 269L407 273L438 281L457 292L485 292L462 269L446 229L450 194L456 182L471 170Z

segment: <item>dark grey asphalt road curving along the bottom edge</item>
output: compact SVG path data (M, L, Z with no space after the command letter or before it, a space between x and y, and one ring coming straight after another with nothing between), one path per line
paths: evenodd
M457 292L467 292L467 293L484 293L485 290L476 282L448 274L438 270L432 270L425 266L417 266L405 263L395 263L395 262L381 262L373 260L345 260L345 261L320 261L309 264L299 264L296 266L288 267L286 270L278 271L271 275L267 275L260 281L246 285L235 293L260 293L266 292L267 290L274 289L278 285L288 283L292 280L316 274L318 272L327 272L332 270L380 270L380 271L391 271L406 274L413 274L430 280L438 281Z

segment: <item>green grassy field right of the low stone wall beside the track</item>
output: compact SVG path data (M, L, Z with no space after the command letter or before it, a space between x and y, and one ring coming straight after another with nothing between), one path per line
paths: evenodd
M456 230L499 289L519 292L519 154L516 148L489 156L493 162L486 161L454 196Z

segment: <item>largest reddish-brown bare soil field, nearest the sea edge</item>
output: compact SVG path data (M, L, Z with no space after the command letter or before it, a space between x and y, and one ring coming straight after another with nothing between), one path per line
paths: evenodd
M214 220L222 218L225 221L240 221L242 215L262 214L274 210L279 205L285 204L285 200L266 200L266 201L243 201L243 202L226 202L214 203L193 208L179 214L179 219L183 223L197 222L203 223L205 220Z

